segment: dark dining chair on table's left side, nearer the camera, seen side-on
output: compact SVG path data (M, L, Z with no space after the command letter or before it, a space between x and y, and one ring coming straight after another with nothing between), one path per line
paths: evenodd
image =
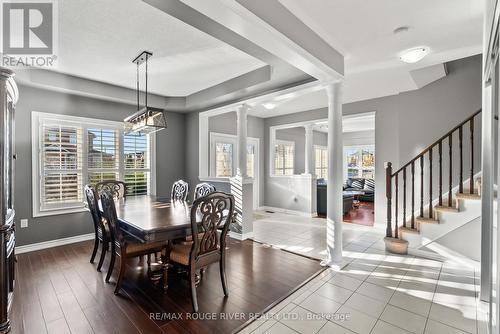
M104 190L101 192L101 205L103 216L108 222L111 236L111 260L109 263L106 282L109 282L114 269L115 259L120 258L120 272L116 281L115 294L118 294L122 285L126 270L126 259L134 258L152 253L162 252L167 247L167 242L158 241L151 243L142 243L139 240L125 236L120 228L117 216L114 196L111 192Z

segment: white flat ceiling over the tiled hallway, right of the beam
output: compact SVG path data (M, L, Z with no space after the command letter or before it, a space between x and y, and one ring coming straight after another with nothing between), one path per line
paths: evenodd
M343 102L362 101L418 89L410 72L482 51L483 1L477 0L280 0L294 15L345 56ZM407 32L394 29L408 26ZM426 45L416 64L399 60L405 49ZM324 90L252 113L272 117L324 108Z

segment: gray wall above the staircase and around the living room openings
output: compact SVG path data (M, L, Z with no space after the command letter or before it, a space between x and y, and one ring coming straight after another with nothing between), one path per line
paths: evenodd
M419 90L343 105L344 115L376 111L375 221L378 224L385 224L386 219L385 162L392 162L395 168L401 166L481 108L481 56L456 60L448 63L447 66L449 73L446 77ZM271 126L324 119L327 116L328 110L322 108L267 118L265 120L266 143L269 142ZM478 171L480 167L480 123L478 118L476 120L475 171ZM464 138L468 138L467 136L468 132L465 131ZM456 140L454 138L455 142ZM268 146L266 145L266 159L269 157ZM468 149L467 143L464 144L464 149ZM443 152L447 153L446 150ZM458 154L455 152L454 156L457 158ZM437 161L436 158L434 159ZM464 163L466 171L469 163L466 156ZM435 163L434 166L437 164ZM444 161L445 171L446 166L447 161ZM458 163L454 161L455 169L457 166ZM265 168L267 176L269 175L267 160ZM418 169L416 173L419 173ZM436 176L437 173L434 175ZM453 183L455 185L458 183L456 170ZM434 187L434 189L437 188ZM418 188L416 190L418 194ZM276 196L274 192L270 193L271 191L266 185L266 205L271 205L268 204L268 200ZM425 196L427 198L427 191Z

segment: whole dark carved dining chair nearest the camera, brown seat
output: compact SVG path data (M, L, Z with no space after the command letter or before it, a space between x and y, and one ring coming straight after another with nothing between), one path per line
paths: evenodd
M191 207L192 242L174 244L167 260L187 269L189 273L191 302L198 312L196 296L196 271L219 262L220 278L224 295L229 291L226 281L226 235L234 212L234 197L223 192L214 192L200 197ZM201 226L200 226L201 225ZM202 233L198 231L203 230ZM219 231L219 228L222 231Z

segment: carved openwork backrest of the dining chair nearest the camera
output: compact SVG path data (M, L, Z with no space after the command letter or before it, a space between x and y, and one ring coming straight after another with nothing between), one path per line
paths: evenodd
M234 212L234 197L213 192L194 201L191 207L191 233L193 246L190 261L200 256L218 253L225 248L226 235ZM219 229L222 228L222 232Z

